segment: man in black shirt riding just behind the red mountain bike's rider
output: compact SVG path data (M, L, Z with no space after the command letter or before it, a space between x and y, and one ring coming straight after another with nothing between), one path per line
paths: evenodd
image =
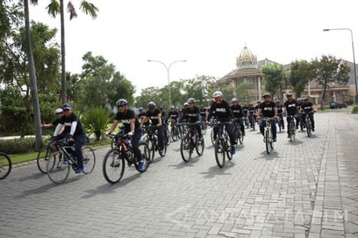
M163 153L163 148L164 148L164 126L162 126L161 112L160 112L159 109L156 108L155 102L148 103L148 111L145 113L145 117L140 122L140 125L142 126L149 119L151 121L151 125L156 126L154 131L158 130L159 153Z

